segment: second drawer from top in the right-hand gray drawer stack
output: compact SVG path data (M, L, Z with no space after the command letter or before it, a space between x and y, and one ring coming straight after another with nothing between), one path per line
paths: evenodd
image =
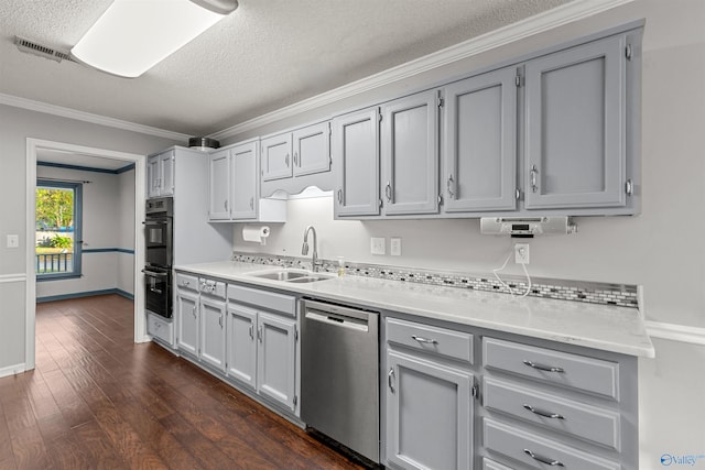
M485 379L485 407L620 450L619 414L511 382Z

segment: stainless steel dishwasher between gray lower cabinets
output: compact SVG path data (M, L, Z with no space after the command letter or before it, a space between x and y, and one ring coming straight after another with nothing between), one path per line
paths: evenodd
M379 314L304 300L301 418L379 463Z

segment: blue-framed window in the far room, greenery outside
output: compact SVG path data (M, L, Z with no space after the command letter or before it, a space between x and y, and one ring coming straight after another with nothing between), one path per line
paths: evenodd
M80 183L36 182L37 281L80 276Z

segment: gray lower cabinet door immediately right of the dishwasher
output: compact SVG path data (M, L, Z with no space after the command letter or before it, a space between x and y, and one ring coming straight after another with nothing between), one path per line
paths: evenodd
M404 469L469 470L473 375L388 351L387 459Z

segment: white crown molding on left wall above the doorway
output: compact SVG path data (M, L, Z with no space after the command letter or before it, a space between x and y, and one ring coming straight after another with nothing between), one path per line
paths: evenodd
M90 112L78 111L76 109L48 105L45 102L20 98L12 95L0 94L0 105L12 106L14 108L28 109L30 111L59 116L62 118L76 119L78 121L90 122L93 124L106 125L108 128L139 132L141 134L154 135L158 138L172 139L176 141L187 141L189 138L189 135L182 134L180 132L172 132L164 129L152 128L149 125L135 124L134 122L122 121L120 119L108 118L106 116L93 114Z

